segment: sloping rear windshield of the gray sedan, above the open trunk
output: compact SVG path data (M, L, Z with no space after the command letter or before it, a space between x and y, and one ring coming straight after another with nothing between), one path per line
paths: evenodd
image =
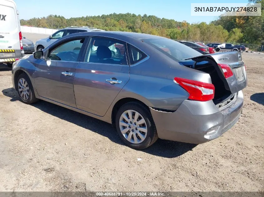
M202 55L198 51L171 39L159 38L143 40L177 62L182 62L185 61L184 59Z

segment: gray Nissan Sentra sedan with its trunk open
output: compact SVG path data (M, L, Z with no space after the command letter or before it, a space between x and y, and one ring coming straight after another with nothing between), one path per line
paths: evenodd
M118 53L116 53L118 51ZM242 113L240 52L201 55L179 42L132 32L67 35L13 64L13 87L113 124L132 148L157 138L205 143Z

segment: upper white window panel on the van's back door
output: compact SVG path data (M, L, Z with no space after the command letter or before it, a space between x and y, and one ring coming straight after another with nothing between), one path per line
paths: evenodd
M1 20L0 20L0 33L10 34L12 31L17 30L16 13L14 8L0 5ZM4 36L4 35L3 35Z

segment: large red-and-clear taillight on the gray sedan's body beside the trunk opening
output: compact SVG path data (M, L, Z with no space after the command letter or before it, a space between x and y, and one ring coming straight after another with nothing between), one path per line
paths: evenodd
M180 77L175 77L173 81L190 94L189 99L191 100L210 101L214 98L215 87L212 83L198 82Z

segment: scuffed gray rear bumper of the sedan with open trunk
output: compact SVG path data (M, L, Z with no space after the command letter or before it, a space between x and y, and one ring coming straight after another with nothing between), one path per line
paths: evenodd
M172 113L151 110L159 138L186 142L205 143L215 139L230 129L242 113L243 94L237 93L236 99L220 110L212 101L185 100ZM217 132L207 132L218 128Z

